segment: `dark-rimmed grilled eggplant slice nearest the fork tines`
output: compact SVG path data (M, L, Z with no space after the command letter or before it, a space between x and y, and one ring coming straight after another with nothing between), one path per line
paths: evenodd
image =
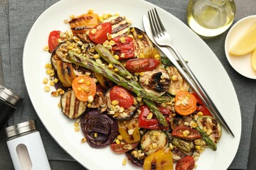
M149 37L143 30L139 28L131 28L131 33L134 37L134 55L139 57L139 54L143 53L145 47L154 47L153 42L149 40Z

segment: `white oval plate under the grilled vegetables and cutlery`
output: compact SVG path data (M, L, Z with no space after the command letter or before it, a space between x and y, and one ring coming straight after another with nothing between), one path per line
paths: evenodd
M33 107L55 141L88 169L139 169L130 163L122 166L125 155L114 154L110 147L94 149L87 143L80 142L83 135L81 130L75 132L73 125L75 120L66 118L58 108L60 98L51 97L50 93L43 90L45 85L42 81L48 77L45 64L50 63L50 54L43 51L43 47L48 45L50 31L69 29L68 24L64 24L63 21L70 15L78 16L87 13L89 9L94 9L95 13L100 15L119 13L132 21L133 26L143 29L142 16L154 7L163 18L175 47L188 60L192 72L208 91L235 134L235 137L232 137L223 130L218 150L213 152L206 149L196 162L196 169L227 169L238 150L241 135L240 106L233 84L213 51L196 33L178 18L146 1L63 0L44 11L33 24L23 50L23 75Z

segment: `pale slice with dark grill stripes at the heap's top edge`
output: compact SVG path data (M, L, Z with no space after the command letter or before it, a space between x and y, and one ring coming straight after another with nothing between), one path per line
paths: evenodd
M112 24L112 38L128 35L129 27L132 25L124 16L111 16L107 18L103 23L111 23Z

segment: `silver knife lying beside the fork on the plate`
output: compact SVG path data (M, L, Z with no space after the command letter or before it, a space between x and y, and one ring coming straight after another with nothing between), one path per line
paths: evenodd
M150 27L150 23L149 23L149 18L147 18L145 15L143 16L143 26L144 26L144 30L146 32L146 35L148 35L149 39L154 43L154 45L156 45L156 47L159 48L159 50L161 50L161 52L164 53L164 55L166 55L166 57L169 58L169 60L174 64L174 66L178 69L178 71L180 72L181 75L187 75L187 73L181 68L181 66L178 64L176 57L174 57L174 55L171 53L171 51L166 48L166 47L161 47L159 45L157 45L157 43L155 42L153 35L151 33L151 27ZM193 75L193 74L192 74ZM196 94L198 94L199 98L203 99L203 103L206 104L206 107L213 113L213 116L218 120L218 122L220 123L220 125L225 128L225 130L227 130L228 132L230 132L231 135L234 134L232 132L232 130L230 130L230 128L228 127L227 123L225 123L225 120L223 119L223 117L220 114L215 113L215 111L217 110L217 108L215 108L214 105L210 106L208 103L206 103L206 100L203 98L203 96L201 95L201 92L198 91L198 88L196 86L196 84L193 83L193 81L191 80L190 77L188 76L184 76L184 79L186 79L186 81L188 82L188 84L191 86L191 89L193 89L193 91L196 92ZM193 76L193 79L196 79L196 77ZM213 103L210 98L207 98L208 101L210 101L210 103Z

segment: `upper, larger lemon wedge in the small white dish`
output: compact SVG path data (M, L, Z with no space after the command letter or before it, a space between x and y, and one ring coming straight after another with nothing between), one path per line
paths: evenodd
M256 23L254 23L230 49L231 55L246 55L256 49Z

